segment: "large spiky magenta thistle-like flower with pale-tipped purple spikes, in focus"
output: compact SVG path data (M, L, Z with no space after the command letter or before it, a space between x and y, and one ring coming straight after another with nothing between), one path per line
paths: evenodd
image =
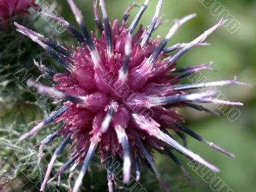
M42 156L45 144L50 143L57 136L63 137L63 142L56 149L49 163L41 191L51 180L56 177L60 179L61 173L65 172L72 164L71 172L75 172L77 166L83 164L73 188L73 191L78 191L95 150L99 152L102 162L105 160L108 162L109 191L113 191L113 180L115 180L113 171L115 168L111 166L110 157L122 159L124 183L129 182L132 166L135 170L136 180L140 180L140 164L148 164L156 174L159 184L168 191L154 165L151 155L152 148L170 156L180 166L189 182L191 179L188 172L184 170L184 166L174 156L172 150L179 151L189 159L204 164L211 170L219 171L216 166L191 152L186 145L180 145L173 140L168 130L177 132L184 141L186 141L185 132L209 147L234 157L233 154L184 127L181 124L184 118L173 109L188 107L216 115L216 112L206 109L198 103L242 105L240 102L218 100L214 98L214 92L189 92L189 90L209 86L244 84L236 81L236 78L211 83L180 84L185 77L200 70L212 70L209 67L212 63L176 68L176 61L189 49L195 46L209 45L204 43L205 38L222 26L225 20L220 20L218 24L188 44L176 44L165 48L177 29L188 20L193 19L196 16L195 13L175 20L174 25L162 41L160 41L160 37L152 40L150 35L161 24L159 12L163 0L159 0L150 25L147 28L140 26L137 31L135 31L136 26L147 9L149 0L146 0L140 7L129 27L127 27L127 18L135 3L129 6L122 22L114 20L111 24L108 20L104 0L100 0L104 22L102 26L97 12L97 1L94 0L95 22L100 31L100 36L97 37L93 33L90 35L86 29L81 12L74 2L68 0L68 3L83 33L51 12L40 13L51 17L61 26L67 28L79 42L78 47L72 47L72 49L61 47L43 35L15 23L17 31L41 45L67 69L65 73L58 73L36 63L42 75L52 82L52 87L28 81L29 86L38 88L41 93L49 93L55 99L64 100L60 109L19 139L21 141L28 138L49 122L63 122L63 127L47 136L40 146L40 156ZM180 51L170 56L169 53L177 49ZM70 159L49 180L56 157L69 142L72 142L73 146Z

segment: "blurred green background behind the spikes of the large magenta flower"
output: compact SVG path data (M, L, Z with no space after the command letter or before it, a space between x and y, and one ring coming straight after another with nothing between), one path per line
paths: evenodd
M51 3L51 1L49 2ZM93 20L92 1L77 0L75 2L83 12L88 29L95 31L96 27ZM106 0L109 20L122 19L124 11L131 2L132 1ZM164 20L170 20L170 22L159 27L153 34L154 38L157 35L161 35L162 37L166 35L168 29L170 29L170 26L173 24L173 19L179 19L193 12L197 13L197 17L184 24L184 26L179 29L178 33L173 36L168 45L177 44L179 42L190 42L206 29L211 28L211 26L218 22L217 17L220 14L218 14L218 10L214 12L214 8L212 10L205 8L204 4L200 2L202 1L165 0L161 13L164 14ZM138 4L142 3L142 0L138 2ZM215 64L213 68L216 69L217 72L203 72L203 75L207 77L208 81L232 79L234 76L237 76L239 81L250 83L252 88L237 85L218 88L229 100L244 103L244 106L237 108L241 112L241 116L236 122L230 122L227 114L221 114L220 117L216 117L192 109L182 109L180 110L180 114L186 116L187 127L201 134L205 139L236 154L236 159L216 152L203 143L189 137L188 148L218 166L221 172L217 173L217 175L230 186L230 189L237 192L253 192L256 191L256 1L225 0L220 1L220 3L223 5L223 8L241 24L241 29L239 29L237 33L230 33L225 26L218 29L218 31L214 32L206 40L206 42L212 44L210 47L196 47L192 49L178 60L179 67L193 66L214 61ZM143 14L140 20L143 26L147 26L150 23L154 15L156 4L157 0L152 0L148 9ZM216 5L214 6L217 8ZM58 0L53 4L53 7L56 8L58 13L65 17L65 19L75 24L74 16L72 12L70 12L66 1ZM138 8L132 10L129 21L134 18L137 11ZM213 12L215 15L212 14ZM40 25L36 26L37 29L40 27ZM49 34L51 34L52 31L51 28L44 28L42 30ZM54 33L54 31L52 31L52 33ZM61 36L63 42L67 42L66 44L68 44L70 38L67 33L59 36ZM184 81L184 83L189 83L189 81ZM209 105L209 107L218 111L214 105ZM33 110L40 111L38 108L28 108L26 115ZM38 113L41 115L38 115L36 119L40 119L40 116L42 117L43 114L42 110ZM4 124L1 126L4 127ZM15 129L15 126L13 126L13 129ZM24 132L20 127L18 130ZM39 137L44 138L44 134L47 134L47 131L42 132ZM177 138L177 140L179 140L179 138ZM29 145L35 145L36 141L39 141L39 139L34 138L34 140L28 140L28 142L31 142ZM51 149L48 148L48 150ZM182 156L179 157L186 165L191 177L204 185L203 187L195 186L194 190L212 191L210 184L205 183L204 180L200 179L200 177L187 166L188 161ZM177 168L170 159L158 153L155 154L155 159L157 167L163 175L163 179L170 183L171 191L190 191L188 182L182 177L179 168ZM65 161L65 159L63 159L63 161ZM45 163L45 161L43 163ZM93 166L93 168L95 167L97 167L97 165ZM104 179L104 175L102 176L101 173L93 175L93 168L91 179L86 179L86 191L107 191L106 182L102 180L102 178ZM20 177L22 178L22 176ZM63 182L65 182L65 180ZM157 181L154 179L154 175L147 171L142 175L141 184L148 191L162 190L157 187ZM29 187L27 186L26 189L29 190Z

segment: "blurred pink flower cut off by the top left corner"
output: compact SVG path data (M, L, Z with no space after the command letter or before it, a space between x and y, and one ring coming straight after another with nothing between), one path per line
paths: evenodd
M0 0L0 21L15 14L28 13L30 6L36 6L34 0Z

